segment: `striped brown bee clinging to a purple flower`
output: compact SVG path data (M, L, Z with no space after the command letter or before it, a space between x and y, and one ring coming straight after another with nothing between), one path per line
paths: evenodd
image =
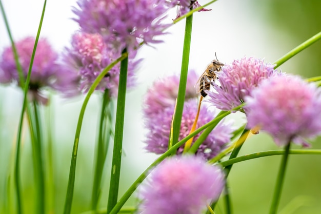
M200 93L203 96L203 98L205 98L205 96L207 95L205 90L210 90L212 81L215 81L216 79L216 72L221 71L222 66L224 66L224 64L219 62L216 58L216 60L213 60L211 64L207 67L207 69L204 71L204 73L199 77L195 88L197 90L197 93Z

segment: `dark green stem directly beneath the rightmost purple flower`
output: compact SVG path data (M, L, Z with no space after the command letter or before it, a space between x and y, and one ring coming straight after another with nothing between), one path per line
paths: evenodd
M274 194L273 194L272 203L271 203L271 207L270 207L270 214L275 214L277 211L279 199L280 199L281 192L282 192L283 181L284 181L284 176L285 176L285 170L287 167L290 146L291 146L291 141L289 141L289 143L285 146L285 152L282 157L282 161L280 164L280 168L278 171L278 176L277 176L277 180L276 180L276 184L275 184Z

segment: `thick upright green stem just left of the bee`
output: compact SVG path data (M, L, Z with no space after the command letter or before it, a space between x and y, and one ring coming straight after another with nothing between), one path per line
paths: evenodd
M188 73L188 63L191 47L191 37L192 37L192 23L193 15L186 18L185 25L185 36L184 36L184 46L183 46L183 56L182 56L182 68L180 70L180 80L177 94L177 105L174 114L173 121L173 145L177 143L180 131L180 122L182 121L186 83L187 83L187 73Z

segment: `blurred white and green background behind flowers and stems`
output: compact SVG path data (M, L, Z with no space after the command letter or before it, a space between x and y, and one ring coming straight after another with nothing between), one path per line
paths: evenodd
M199 0L201 5L208 1ZM12 34L15 40L28 35L36 35L41 17L43 1L4 0L3 1ZM74 0L48 1L41 36L47 37L57 51L69 46L71 34L78 29L71 20ZM193 32L190 54L190 69L201 74L215 58L230 63L244 56L264 58L273 63L279 57L300 43L318 33L321 29L321 1L319 0L225 0L207 7L209 12L196 12L193 16ZM176 10L169 12L167 21L175 18ZM144 61L137 69L137 87L127 94L124 157L122 160L122 196L133 181L157 158L157 155L144 150L144 120L142 101L147 88L165 75L179 73L185 21L168 29L162 36L164 43L153 47L143 46L138 57ZM3 18L0 21L0 51L10 45ZM312 77L320 75L321 42L300 52L284 65L284 72ZM71 152L74 133L83 96L66 100L58 95L51 96L50 106L44 108L45 125L51 123L53 136L53 175L54 186L49 191L50 213L61 213L66 197ZM0 86L0 212L13 210L13 160L16 131L22 106L22 92L15 86ZM101 94L92 96L85 113L79 153L77 159L75 191L72 213L89 210L93 173L94 144L97 133L97 120ZM134 112L134 113L133 113ZM136 113L137 112L137 113ZM242 114L232 114L235 126L245 122ZM321 148L321 139L311 142L312 148ZM298 148L293 146L292 148ZM239 155L251 152L277 149L271 138L260 133L248 139ZM99 207L106 207L110 173L110 154L107 158L104 187ZM45 146L45 152L46 146ZM22 147L22 187L25 213L33 211L33 173L31 145L28 130L25 129ZM235 164L229 176L231 199L235 214L266 213L269 210L280 156L260 158ZM48 156L46 155L46 160ZM321 157L319 155L291 155L286 173L279 211L282 213L321 213ZM46 162L46 164L49 164ZM48 174L47 174L48 178ZM9 183L8 183L9 182ZM49 184L48 183L48 184ZM9 185L8 185L9 184ZM7 196L11 195L11 198ZM126 205L135 205L132 197ZM291 210L291 211L289 211ZM222 203L216 209L224 213ZM279 212L281 213L281 212Z

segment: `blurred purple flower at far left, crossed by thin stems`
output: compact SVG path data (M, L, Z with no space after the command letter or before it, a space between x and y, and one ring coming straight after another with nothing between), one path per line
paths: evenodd
M30 36L15 43L24 80L29 70L34 42L35 38ZM46 86L61 92L66 92L68 95L77 93L75 85L77 76L65 72L65 70L57 64L57 57L57 53L52 49L46 38L40 38L30 76L30 89L28 94L30 100L36 100L39 103L46 104L48 100L41 94L41 90ZM1 83L16 82L19 84L20 80L11 46L5 48L0 67Z

